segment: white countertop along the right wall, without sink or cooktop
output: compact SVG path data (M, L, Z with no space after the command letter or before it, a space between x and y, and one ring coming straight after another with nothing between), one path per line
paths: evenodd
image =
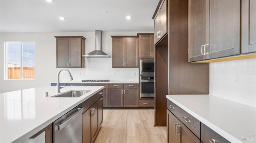
M256 108L211 95L166 98L231 143L256 143Z

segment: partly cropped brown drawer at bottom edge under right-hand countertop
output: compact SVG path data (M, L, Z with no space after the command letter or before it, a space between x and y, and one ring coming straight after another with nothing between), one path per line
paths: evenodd
M209 143L210 141L214 142L214 140L216 143L230 143L224 137L201 123L201 141Z

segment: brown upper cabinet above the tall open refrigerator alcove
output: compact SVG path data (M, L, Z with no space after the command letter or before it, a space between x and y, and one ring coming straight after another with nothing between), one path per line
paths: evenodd
M156 44L167 33L167 0L160 1L160 6L154 14L154 44Z

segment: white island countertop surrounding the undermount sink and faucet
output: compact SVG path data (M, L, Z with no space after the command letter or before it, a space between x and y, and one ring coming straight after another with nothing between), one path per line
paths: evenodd
M56 86L43 86L0 94L0 143L22 143L72 110L104 86L67 86L68 90L91 90L76 98L45 97L56 94Z

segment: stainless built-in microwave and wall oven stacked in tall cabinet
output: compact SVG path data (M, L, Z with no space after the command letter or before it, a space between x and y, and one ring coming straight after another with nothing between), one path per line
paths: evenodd
M140 98L154 98L154 69L154 60L140 60Z

